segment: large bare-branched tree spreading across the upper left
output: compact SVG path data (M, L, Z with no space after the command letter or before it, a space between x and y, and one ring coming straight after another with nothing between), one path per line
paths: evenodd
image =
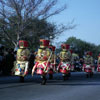
M35 41L36 36L43 36L40 33L47 31L44 29L36 31L32 25L35 27L35 25L37 26L36 23L45 22L47 18L66 9L65 5L55 9L57 2L58 0L0 0L0 38L2 38L3 42L9 42L10 45L13 44L16 47L20 38L30 36ZM38 25L38 27L40 26ZM53 38L57 34L73 28L72 25L61 25L57 30L57 26L50 24L47 27L51 26L54 26L53 30L55 29L55 33L49 34L55 34ZM52 29L49 31L52 31Z

